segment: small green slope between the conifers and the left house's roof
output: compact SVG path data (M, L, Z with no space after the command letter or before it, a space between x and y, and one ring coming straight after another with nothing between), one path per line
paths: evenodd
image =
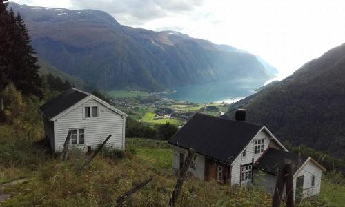
M43 59L39 58L38 65L40 67L39 75L48 75L49 73L51 73L55 77L59 77L62 81L70 82L72 86L75 86L77 88L83 89L86 86L86 83L79 77L68 75L66 72L62 72L61 70L50 65L50 63L43 61Z

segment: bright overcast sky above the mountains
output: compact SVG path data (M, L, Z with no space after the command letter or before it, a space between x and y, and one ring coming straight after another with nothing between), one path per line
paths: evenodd
M345 43L345 1L15 0L30 6L99 9L119 23L175 30L263 57L286 77Z

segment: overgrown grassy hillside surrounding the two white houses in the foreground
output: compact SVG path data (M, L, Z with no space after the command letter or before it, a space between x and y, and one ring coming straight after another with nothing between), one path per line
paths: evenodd
M21 97L14 86L3 92L8 124L0 124L0 202L2 206L115 206L117 197L153 176L124 206L168 206L177 179L172 149L166 141L126 139L126 150L103 149L87 167L84 152L71 150L68 161L51 155L43 139L38 106L42 100ZM12 89L11 89L12 88ZM337 206L344 200L339 175L331 174L320 199L299 206ZM260 187L230 188L190 175L178 206L270 206Z

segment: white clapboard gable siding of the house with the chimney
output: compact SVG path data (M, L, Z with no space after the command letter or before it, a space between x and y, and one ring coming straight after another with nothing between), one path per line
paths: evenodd
M257 133L257 135L246 146L246 156L243 157L241 152L233 161L231 168L231 185L240 183L241 165L251 164L253 158L255 162L262 155L262 153L254 154L254 141L257 139L264 139L264 150L268 148L268 145L271 141L270 137L268 137L267 133L265 133L263 130ZM244 183L242 182L242 184Z

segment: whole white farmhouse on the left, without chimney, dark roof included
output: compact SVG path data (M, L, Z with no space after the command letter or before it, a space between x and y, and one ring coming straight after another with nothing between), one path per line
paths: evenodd
M41 106L44 135L53 152L63 149L68 131L70 146L96 148L109 134L106 146L125 147L126 113L88 92L70 88Z

